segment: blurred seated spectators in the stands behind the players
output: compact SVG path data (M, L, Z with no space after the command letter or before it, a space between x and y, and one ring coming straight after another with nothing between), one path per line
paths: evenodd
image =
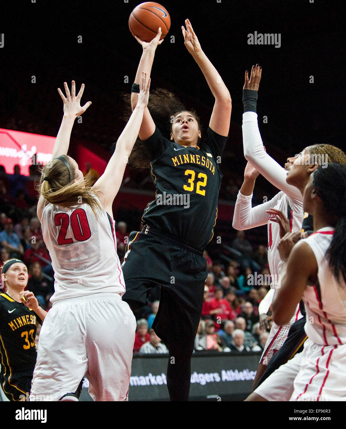
M1 264L16 257L29 269L27 290L36 296L45 310L54 293L54 272L46 245L42 239L39 219L36 217L37 197L35 181L39 178L37 165L31 165L30 175L21 175L20 166L14 174L6 174L0 166L0 259ZM129 236L127 224L117 222L118 254L123 259ZM227 265L211 259L204 252L209 274L204 289L202 318L195 347L200 351L248 353L263 350L269 330L259 325L258 304L270 287L267 249L258 245L254 251L243 231L237 231L231 243L241 254ZM158 311L160 287L155 287L147 306L136 311L137 332L134 353L167 353L167 347L151 328Z

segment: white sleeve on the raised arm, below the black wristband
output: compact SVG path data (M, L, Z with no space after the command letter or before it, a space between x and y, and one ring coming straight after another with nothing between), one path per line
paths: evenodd
M303 201L298 188L286 182L287 172L264 150L261 134L258 129L257 113L243 114L244 156L255 169L271 184L285 192L292 199Z

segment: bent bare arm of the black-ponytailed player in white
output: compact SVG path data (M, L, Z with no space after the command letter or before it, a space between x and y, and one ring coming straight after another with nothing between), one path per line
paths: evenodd
M275 290L272 310L273 320L279 326L291 320L308 282L317 277L317 261L310 246L305 242L294 244L298 235L300 233L286 234L278 246L284 263L281 285Z

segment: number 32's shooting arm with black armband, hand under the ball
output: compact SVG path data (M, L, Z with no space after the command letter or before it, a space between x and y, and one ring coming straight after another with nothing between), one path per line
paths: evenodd
M160 39L161 34L162 33L161 33L161 27L160 27L156 37L152 39L152 41L149 43L143 42L143 40L140 40L137 36L135 36L137 42L140 43L140 45L142 45L142 48L143 48L142 57L140 59L140 63L138 65L138 69L136 73L136 78L134 80L134 83L136 85L139 85L140 83L140 76L142 72L146 73L147 79L150 78L150 73L152 71L152 63L154 61L154 56L155 56L155 50L157 46L161 45L161 43L163 42L163 39ZM132 111L136 107L137 102L138 102L138 92L131 92ZM154 131L155 131L155 123L152 119L152 116L150 115L148 108L146 108L143 114L143 121L140 127L139 137L141 140L147 140L149 139L150 136L154 134Z

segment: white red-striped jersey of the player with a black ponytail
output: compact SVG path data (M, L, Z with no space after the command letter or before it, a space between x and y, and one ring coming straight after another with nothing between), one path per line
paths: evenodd
M321 228L304 241L311 247L318 265L318 281L307 286L303 300L307 311L305 332L316 344L346 343L346 284L334 277L325 258L334 229Z

